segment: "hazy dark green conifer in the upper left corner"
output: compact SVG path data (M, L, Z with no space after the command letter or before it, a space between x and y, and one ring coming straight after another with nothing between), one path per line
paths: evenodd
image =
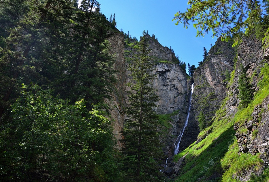
M5 29L5 47L1 50L0 61L5 64L0 68L2 78L0 117L4 106L9 105L7 102L10 97L14 98L18 94L17 90L20 89L18 81L27 83L37 81L40 79L39 70L42 70L44 64L50 62L54 65L57 62L54 53L61 42L61 37L66 36L65 23L72 13L74 4L72 1L61 0L36 3L16 0L15 3L18 3L20 8L16 8L15 5L7 10L9 4L14 4L13 1L8 0L4 1L0 10L1 21L2 18L10 21L1 26L1 29ZM59 41L55 40L57 38Z

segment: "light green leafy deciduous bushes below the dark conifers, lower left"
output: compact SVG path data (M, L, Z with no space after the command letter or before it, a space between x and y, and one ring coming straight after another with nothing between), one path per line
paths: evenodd
M51 90L22 88L1 128L1 180L116 179L112 127L99 106L88 112L83 100L69 105Z

